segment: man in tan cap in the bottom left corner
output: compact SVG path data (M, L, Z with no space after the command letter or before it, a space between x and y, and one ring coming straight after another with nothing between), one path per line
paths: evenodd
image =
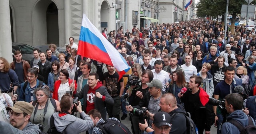
M39 127L29 121L34 106L28 102L18 101L13 107L7 107L6 110L11 110L11 124L0 121L2 134L40 134Z

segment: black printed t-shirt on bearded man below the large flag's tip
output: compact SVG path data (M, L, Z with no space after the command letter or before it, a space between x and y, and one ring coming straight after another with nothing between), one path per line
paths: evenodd
M106 87L109 95L111 97L116 97L120 95L120 82L124 82L123 77L118 81L119 75L115 72L113 75L110 75L108 72L104 73L103 80L106 82Z

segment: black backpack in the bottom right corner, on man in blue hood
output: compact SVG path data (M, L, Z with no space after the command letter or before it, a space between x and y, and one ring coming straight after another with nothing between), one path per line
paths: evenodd
M248 117L248 126L242 126L236 120L229 120L231 124L236 126L240 131L240 134L256 134L256 126L254 126L251 116L247 115Z

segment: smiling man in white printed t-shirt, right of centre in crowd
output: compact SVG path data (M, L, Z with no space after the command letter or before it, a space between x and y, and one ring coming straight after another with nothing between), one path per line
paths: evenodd
M185 57L186 63L180 66L184 70L186 82L189 82L189 79L191 76L197 74L196 67L194 65L192 65L190 63L190 61L191 61L190 55L186 55L186 57Z

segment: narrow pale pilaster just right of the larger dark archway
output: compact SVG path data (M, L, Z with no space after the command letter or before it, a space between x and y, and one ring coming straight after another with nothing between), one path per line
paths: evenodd
M65 42L69 44L69 37L71 37L70 28L70 0L64 1L64 14L65 14Z

